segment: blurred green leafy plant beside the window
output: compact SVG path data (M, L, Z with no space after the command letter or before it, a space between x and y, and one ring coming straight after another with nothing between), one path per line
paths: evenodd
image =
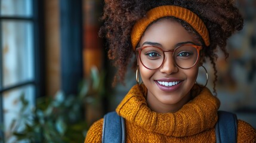
M97 98L92 94L98 94ZM7 140L25 142L84 142L88 123L84 105L96 105L104 94L104 73L91 69L91 76L81 82L78 95L58 91L53 97L36 100L35 108L22 95L18 119L11 125L13 136Z

